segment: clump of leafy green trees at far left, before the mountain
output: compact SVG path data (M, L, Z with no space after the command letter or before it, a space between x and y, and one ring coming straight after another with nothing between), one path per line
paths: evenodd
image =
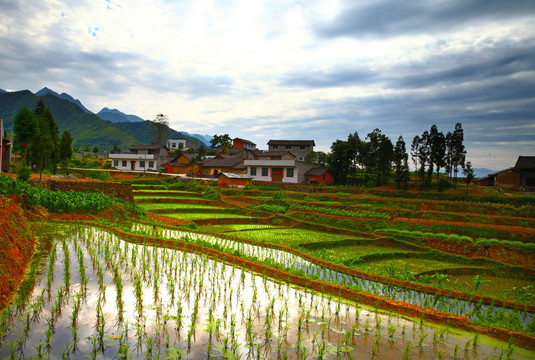
M13 130L16 134L13 145L22 155L23 167L36 166L40 175L47 168L55 174L60 163L63 168L68 167L72 136L68 131L59 136L54 116L43 100L39 100L33 111L23 107L15 115Z

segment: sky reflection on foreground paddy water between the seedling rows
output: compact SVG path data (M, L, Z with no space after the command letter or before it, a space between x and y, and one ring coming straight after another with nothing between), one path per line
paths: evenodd
M69 294L64 298L61 305L61 314L55 322L55 335L51 341L51 357L61 358L62 352L70 352L71 359L86 359L93 349L92 337L97 335L96 309L101 298L105 294L105 302L101 299L102 313L105 322L105 351L98 352L96 358L116 358L118 343L121 336L126 336L125 343L129 345L133 358L145 358L144 352L148 351L149 343L153 343L154 353L160 351L161 357L166 356L166 343L171 347L178 347L181 351L187 350L187 337L191 329L191 317L195 308L195 297L198 296L198 321L195 327L195 340L191 347L190 359L205 359L209 344L207 326L209 313L215 319L220 320L219 331L212 336L212 353L218 353L217 346L222 346L225 337L230 334L231 316L235 319L236 340L238 346L236 352L242 358L248 355L256 357L258 351L263 358L277 358L279 339L286 337L288 343L284 348L290 358L297 358L298 349L295 344L301 338L301 345L307 351L318 351L321 343L329 345L330 358L334 357L337 344L342 344L346 334L355 326L354 334L348 337L348 344L353 349L353 356L370 355L373 342L380 337L379 354L385 358L399 358L408 340L417 344L420 333L427 334L426 344L420 353L421 358L436 358L437 351L443 354L453 354L455 345L464 346L471 336L460 336L449 332L446 343L433 345L432 327L420 325L410 320L376 314L367 309L357 308L345 303L338 304L336 297L321 297L313 295L309 291L287 287L285 283L275 283L260 275L253 275L239 268L233 268L207 258L174 251L164 248L133 245L120 241L104 231L86 229L87 238L84 236L72 236L68 242L68 257L70 260L70 287ZM77 240L77 241L75 241ZM77 244L77 245L76 245ZM77 248L77 246L79 248ZM97 251L100 249L100 252ZM44 344L45 334L50 320L50 309L58 299L58 291L65 286L64 282L64 255L60 241L56 245L57 257L54 262L54 282L51 287L50 300L47 298L47 271L48 261L43 262L42 278L36 283L29 305L22 314L14 316L10 333L2 343L0 356L10 355L11 344L19 341L24 328L24 318L27 312L31 313L32 304L35 304L41 294L45 294L45 302L39 318L31 323L31 331L28 339L23 343L24 356L30 357L36 354L39 343ZM108 264L104 254L108 252ZM78 342L76 353L72 350L71 316L76 296L81 292L79 278L79 258L82 255L83 266L87 276L87 292L83 299L78 317ZM92 255L94 254L94 256ZM133 254L136 257L136 265L133 265ZM145 267L142 262L145 261ZM157 260L155 260L157 259ZM114 283L112 266L117 266L123 285L122 300L124 302L124 323L117 323L117 287ZM97 269L103 270L103 283L105 291L99 286ZM156 269L159 269L159 275ZM142 282L143 321L145 327L141 331L141 344L138 346L138 311L136 309L135 278L139 276L145 280ZM156 279L156 281L155 281ZM243 280L242 280L243 279ZM175 283L175 302L171 302L171 282ZM155 301L155 287L158 285L158 300ZM202 289L200 288L202 284ZM231 296L232 294L232 296ZM182 327L175 330L178 299L182 311ZM268 309L272 306L272 322L269 328L266 325ZM157 309L161 309L158 320ZM210 310L211 309L211 310ZM339 311L339 314L336 314ZM356 313L359 312L358 323ZM252 348L247 347L247 317L252 316L254 333ZM283 316L279 321L279 315ZM167 321L164 321L167 319ZM301 328L298 328L301 319ZM308 321L307 321L308 319ZM280 324L280 325L279 325ZM377 325L380 328L377 328ZM126 327L128 332L126 332ZM388 340L388 332L392 327L396 328L393 336L394 341ZM405 327L405 334L402 329ZM367 331L365 331L367 328ZM266 329L270 329L272 336L266 341ZM286 335L284 335L286 334ZM379 335L378 335L379 334ZM217 344L217 345L216 345ZM505 344L502 345L506 347ZM20 350L17 350L17 356ZM301 351L305 351L302 349ZM416 350L413 350L416 353ZM481 345L477 349L475 358L485 358L497 355L501 349L488 345Z

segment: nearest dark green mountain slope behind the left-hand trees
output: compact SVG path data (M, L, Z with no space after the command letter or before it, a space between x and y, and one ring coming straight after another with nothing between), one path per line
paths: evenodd
M82 147L97 145L101 151L104 149L110 151L114 144L121 148L142 144L139 139L126 131L94 114L88 114L69 100L51 93L37 96L28 90L0 94L0 117L5 121L4 129L12 129L13 119L20 109L23 107L35 109L39 99L43 99L45 105L50 107L60 133L64 130L71 133L73 145Z

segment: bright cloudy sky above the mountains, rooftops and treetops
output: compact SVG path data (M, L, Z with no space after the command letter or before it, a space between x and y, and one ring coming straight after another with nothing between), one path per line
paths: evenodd
M475 167L535 155L532 0L0 0L0 49L4 90L259 148L460 122Z

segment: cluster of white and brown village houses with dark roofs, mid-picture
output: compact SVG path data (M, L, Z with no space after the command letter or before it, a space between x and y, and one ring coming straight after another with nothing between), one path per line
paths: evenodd
M244 185L250 181L330 185L332 175L319 164L305 161L314 140L270 140L259 150L249 140L236 138L227 152L200 157L196 144L169 139L167 145L134 145L129 153L110 154L118 170L165 171L189 176L217 177L219 184Z

